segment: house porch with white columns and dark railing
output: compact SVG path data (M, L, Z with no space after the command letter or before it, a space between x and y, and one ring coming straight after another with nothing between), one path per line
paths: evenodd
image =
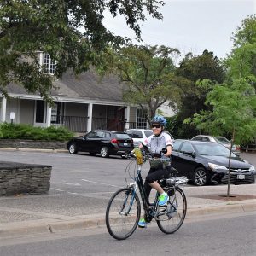
M64 126L84 133L97 129L125 131L147 128L145 114L139 108L88 102L55 102L49 106L39 99L2 99L0 123L13 122L33 126Z

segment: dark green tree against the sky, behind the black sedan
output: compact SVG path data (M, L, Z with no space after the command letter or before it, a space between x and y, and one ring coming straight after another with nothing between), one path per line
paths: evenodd
M197 135L194 125L183 124L183 120L199 113L201 110L211 108L205 105L207 92L210 90L206 86L197 86L198 80L209 79L214 84L224 82L225 68L218 57L212 52L204 50L202 55L188 54L185 56L180 66L176 70L179 77L183 77L180 84L181 102L177 105L176 137L191 138Z

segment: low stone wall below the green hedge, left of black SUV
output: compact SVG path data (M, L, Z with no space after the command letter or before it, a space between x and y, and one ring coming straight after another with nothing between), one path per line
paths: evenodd
M67 142L0 139L0 148L67 149Z

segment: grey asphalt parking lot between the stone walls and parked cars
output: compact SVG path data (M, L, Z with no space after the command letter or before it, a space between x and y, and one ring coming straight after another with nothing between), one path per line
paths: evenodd
M65 191L68 194L113 192L126 185L125 168L131 160L119 156L102 158L99 155L68 154L0 150L1 160L29 164L52 165L51 187L53 191ZM241 157L256 166L256 154L241 153ZM148 172L148 163L143 166L143 175ZM130 166L133 174L135 166ZM128 182L131 181L126 172ZM129 179L130 178L130 179Z

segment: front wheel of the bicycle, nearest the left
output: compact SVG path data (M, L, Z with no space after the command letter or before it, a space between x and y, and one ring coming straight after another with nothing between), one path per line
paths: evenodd
M133 189L119 189L108 202L106 224L113 238L124 240L136 230L141 204Z

